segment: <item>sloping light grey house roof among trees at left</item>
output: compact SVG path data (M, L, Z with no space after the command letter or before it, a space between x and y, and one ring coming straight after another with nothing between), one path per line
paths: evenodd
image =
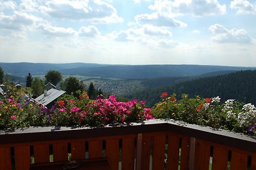
M65 94L65 91L58 90L58 89L50 89L47 91L47 95L45 96L42 94L41 96L36 97L35 101L37 103L44 104L46 106L47 104L51 103L61 95Z

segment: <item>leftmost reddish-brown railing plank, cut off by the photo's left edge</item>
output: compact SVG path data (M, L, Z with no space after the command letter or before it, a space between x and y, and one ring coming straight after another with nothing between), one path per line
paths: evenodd
M12 169L10 146L0 148L0 169L6 169L6 170Z

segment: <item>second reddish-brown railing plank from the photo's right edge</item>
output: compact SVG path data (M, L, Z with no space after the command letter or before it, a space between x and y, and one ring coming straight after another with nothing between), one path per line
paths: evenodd
M248 155L232 151L230 170L247 169Z

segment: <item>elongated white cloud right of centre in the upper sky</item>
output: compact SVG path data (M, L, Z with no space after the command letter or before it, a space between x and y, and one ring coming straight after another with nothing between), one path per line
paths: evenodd
M167 13L152 13L136 15L135 20L139 25L154 25L157 27L186 27L187 24L173 19Z

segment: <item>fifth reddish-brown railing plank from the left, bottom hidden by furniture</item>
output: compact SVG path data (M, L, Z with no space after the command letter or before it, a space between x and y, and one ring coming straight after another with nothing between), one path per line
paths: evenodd
M85 141L76 141L71 143L71 159L85 159Z

